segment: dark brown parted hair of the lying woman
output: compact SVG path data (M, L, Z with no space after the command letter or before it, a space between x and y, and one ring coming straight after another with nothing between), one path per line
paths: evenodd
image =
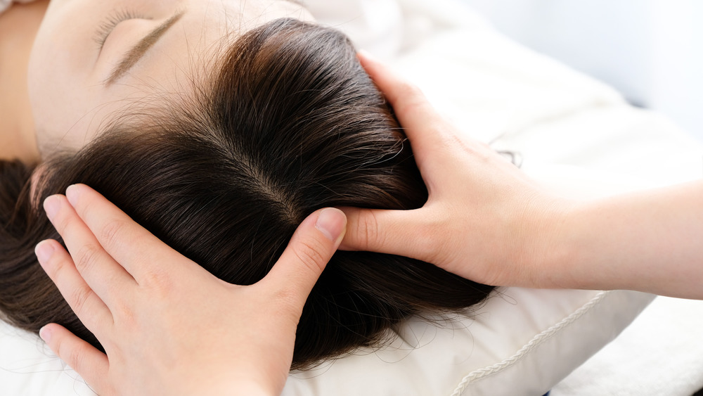
M39 203L73 183L239 284L262 279L320 207L425 203L411 147L340 32L273 21L238 39L207 80L198 100L136 124L122 117L78 153L48 162L34 197L29 167L0 165L0 310L8 321L34 332L58 322L99 347L33 253L44 238L60 241ZM376 345L409 315L470 307L491 289L406 257L337 252L304 307L294 367Z

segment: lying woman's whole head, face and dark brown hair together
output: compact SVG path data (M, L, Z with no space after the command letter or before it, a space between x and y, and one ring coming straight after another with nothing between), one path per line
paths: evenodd
M41 160L1 165L0 310L11 324L62 324L100 348L34 255L60 238L41 202L71 184L243 285L321 207L425 203L411 147L342 33L288 1L174 3L49 4L29 68ZM491 290L418 260L340 251L304 307L293 368L379 345L406 317L471 307Z

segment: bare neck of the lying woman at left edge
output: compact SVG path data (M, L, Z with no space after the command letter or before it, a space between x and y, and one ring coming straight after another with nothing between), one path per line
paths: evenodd
M27 91L27 65L49 0L14 5L0 15L0 159L39 160Z

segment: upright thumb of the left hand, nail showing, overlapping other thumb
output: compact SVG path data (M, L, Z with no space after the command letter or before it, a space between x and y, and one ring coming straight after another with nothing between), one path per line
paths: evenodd
M327 207L313 212L295 230L264 280L278 283L278 290L292 290L302 307L342 242L346 226L347 217L339 209Z

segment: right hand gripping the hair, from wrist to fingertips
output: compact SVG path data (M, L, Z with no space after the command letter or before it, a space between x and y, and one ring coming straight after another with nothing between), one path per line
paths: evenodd
M404 127L430 196L418 210L342 208L341 248L413 257L491 285L547 286L532 264L567 203L462 136L413 85L364 53L359 59Z

